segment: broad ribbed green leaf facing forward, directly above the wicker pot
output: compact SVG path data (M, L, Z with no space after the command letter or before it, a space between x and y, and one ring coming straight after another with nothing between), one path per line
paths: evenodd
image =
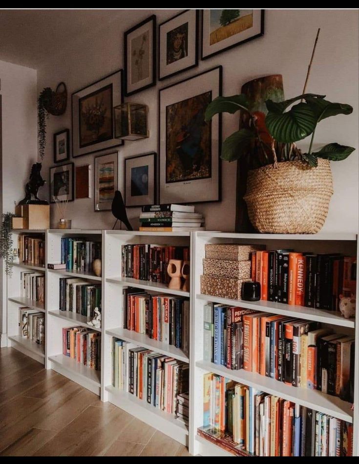
M310 135L317 125L317 118L310 106L298 103L285 113L270 111L266 126L277 142L293 143Z

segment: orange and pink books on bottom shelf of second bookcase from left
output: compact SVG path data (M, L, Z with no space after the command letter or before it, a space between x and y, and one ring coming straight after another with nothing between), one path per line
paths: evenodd
M101 370L101 334L85 327L63 327L63 355Z

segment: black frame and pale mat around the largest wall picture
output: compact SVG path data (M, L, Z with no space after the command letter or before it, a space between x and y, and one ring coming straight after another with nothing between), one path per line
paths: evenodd
M158 187L158 196L159 196L159 202L160 203L177 203L177 204L188 204L188 203L214 203L222 200L222 164L221 164L221 146L222 146L222 114L219 113L215 115L211 119L211 149L213 150L213 143L214 143L214 156L213 153L211 153L211 182L213 182L214 186L211 187L211 190L208 188L208 186L203 186L201 188L200 184L198 184L197 191L193 191L192 197L190 194L187 194L186 190L190 189L190 184L193 181L176 181L176 182L171 182L171 183L166 183L163 181L163 178L165 177L164 175L164 170L166 170L166 146L167 146L167 141L166 141L166 135L164 139L161 139L161 128L163 130L163 127L161 127L161 122L164 122L161 120L161 105L162 105L162 98L161 98L161 93L164 94L165 91L168 91L169 89L172 89L173 87L176 86L182 86L182 89L179 87L180 91L180 96L178 101L181 102L183 101L183 95L181 95L181 90L186 89L189 91L190 89L190 81L197 80L200 78L198 81L197 85L201 89L200 92L202 92L202 89L206 88L206 81L205 81L205 76L210 73L213 73L214 76L212 76L213 79L217 80L218 86L216 88L213 87L213 92L211 93L211 98L214 99L217 96L222 96L222 86L223 86L223 68L221 65L215 66L213 68L207 69L206 71L203 71L199 74L196 74L194 76L191 76L187 79L184 79L183 81L176 82L174 84L170 84L167 87L159 89L159 108L158 108L158 140L159 140L159 187ZM183 84L186 85L184 86ZM210 85L210 84L209 84ZM203 93L203 92L202 92ZM174 92L170 92L170 95L172 98L175 99ZM194 94L194 96L198 95ZM176 99L175 99L176 100ZM185 99L186 100L186 99ZM167 107L168 102L164 102L163 105L164 107ZM163 117L162 117L163 119ZM213 129L213 124L215 124L215 127ZM167 127L167 115L166 115L166 127ZM166 128L165 127L165 128ZM163 159L164 158L164 159ZM213 161L212 161L213 160ZM214 180L212 180L214 178ZM201 182L203 180L208 180L207 178L201 178L201 179L195 179L194 182ZM164 185L162 185L164 184ZM166 194L166 192L169 192L170 187L169 185L173 184L174 186L178 186L178 189L181 189L181 194L176 196L176 192L173 194ZM175 189L175 188L174 188ZM186 192L186 193L185 193ZM201 194L206 192L207 196L211 196L210 199L207 199L205 196L201 197ZM200 193L200 194L199 194Z

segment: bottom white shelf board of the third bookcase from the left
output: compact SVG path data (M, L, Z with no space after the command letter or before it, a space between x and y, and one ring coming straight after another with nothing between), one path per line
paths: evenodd
M117 390L111 385L106 386L106 391L108 401L111 403L157 428L177 442L184 445L188 444L189 432L187 426L171 414L152 406L147 401L138 399L131 393Z

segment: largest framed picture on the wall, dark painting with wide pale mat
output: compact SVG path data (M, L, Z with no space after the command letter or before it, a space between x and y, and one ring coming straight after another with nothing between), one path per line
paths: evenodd
M221 118L204 116L221 94L222 66L160 89L160 203L220 200Z

